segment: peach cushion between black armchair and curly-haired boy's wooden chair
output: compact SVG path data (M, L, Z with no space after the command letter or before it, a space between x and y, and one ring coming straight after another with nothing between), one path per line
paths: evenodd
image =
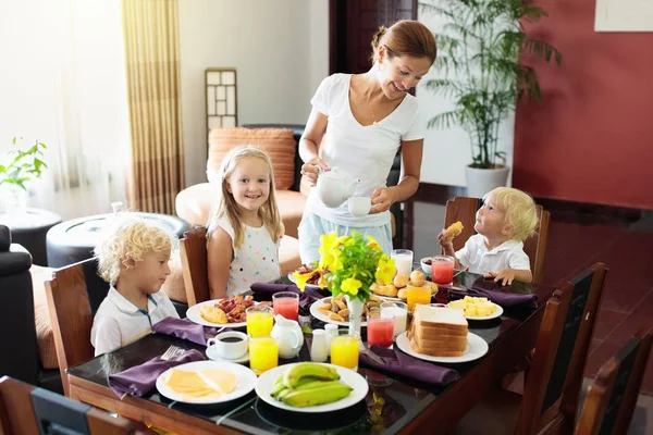
M34 293L34 323L36 326L36 340L38 353L44 369L59 368L57 349L54 348L54 336L52 334L52 322L48 310L48 298L46 296L46 281L52 279L56 269L33 265L32 288Z

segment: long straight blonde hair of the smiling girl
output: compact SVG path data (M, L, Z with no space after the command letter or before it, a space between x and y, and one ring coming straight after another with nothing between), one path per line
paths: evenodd
M266 229L268 229L268 233L270 233L272 240L279 240L282 235L281 214L276 207L274 173L272 171L270 157L268 157L262 149L251 145L232 148L222 160L220 169L218 170L217 175L220 181L220 192L218 202L209 215L209 222L207 223L207 238L209 238L218 227L219 221L227 217L232 228L234 228L235 240L233 240L233 243L235 247L239 247L243 244L245 226L241 222L241 216L238 215L238 204L233 195L227 190L226 179L232 175L238 163L245 159L260 159L268 165L270 195L268 196L268 200L259 208L259 216L261 217L261 221L263 221L263 225L266 226Z

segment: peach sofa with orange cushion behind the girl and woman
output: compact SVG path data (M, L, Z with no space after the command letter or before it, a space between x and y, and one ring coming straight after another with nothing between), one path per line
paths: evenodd
M209 179L211 179L211 171L217 170L219 165L218 159L224 154L227 147L249 142L262 146L268 152L272 150L272 163L275 165L274 173L278 181L278 206L286 235L293 238L297 238L297 227L301 221L306 197L310 190L310 185L300 174L304 162L297 148L303 134L304 125L297 124L246 124L243 128L214 128L209 133L209 157L207 159ZM293 145L293 149L288 147L289 144ZM279 170L283 171L283 183L279 183L276 164L282 166ZM289 166L291 164L292 166ZM287 178L289 171L292 171L292 179ZM395 186L399 181L399 175L401 157L397 153L387 177L387 185ZM212 189L211 183L201 183L182 190L176 197L177 215L190 224L206 224L211 209L211 199L214 196ZM402 203L393 204L391 212L393 244L395 247L401 247L403 243ZM284 253L283 250L281 253ZM289 257L293 252L285 253ZM298 257L298 248L295 254Z

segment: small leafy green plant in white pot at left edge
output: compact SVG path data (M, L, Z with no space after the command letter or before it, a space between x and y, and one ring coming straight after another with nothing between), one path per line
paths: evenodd
M41 160L46 144L38 140L27 149L20 149L17 140L12 140L13 149L8 153L5 164L0 164L0 212L24 213L27 209L27 187L34 177L40 177L48 165Z

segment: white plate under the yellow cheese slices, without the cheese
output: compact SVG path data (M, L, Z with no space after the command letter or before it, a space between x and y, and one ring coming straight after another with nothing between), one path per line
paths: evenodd
M172 369L168 369L159 377L157 377L157 389L161 395L168 397L171 400L182 401L184 403L221 403L230 400L237 399L238 397L243 397L249 391L251 391L256 387L256 374L249 370L248 368L236 364L233 362L224 362L224 361L195 361L188 362L186 364L177 365L173 369L176 370L185 370L187 372L195 372L198 370L207 370L207 369L218 369L224 370L226 372L232 372L238 378L238 384L236 384L236 388L221 397L189 397L183 394L175 393L172 388L170 388L163 380L170 376L170 372Z

